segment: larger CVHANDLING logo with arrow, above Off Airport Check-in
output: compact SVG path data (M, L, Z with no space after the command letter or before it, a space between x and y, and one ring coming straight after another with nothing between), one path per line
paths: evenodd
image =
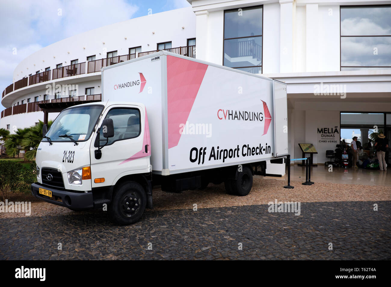
M261 100L262 101L262 100ZM262 101L264 112L254 112L254 111L236 111L236 110L217 110L217 118L224 120L232 120L232 121L261 121L265 123L264 125L264 133L262 135L267 134L269 130L269 126L271 123L271 114L267 107L266 102Z

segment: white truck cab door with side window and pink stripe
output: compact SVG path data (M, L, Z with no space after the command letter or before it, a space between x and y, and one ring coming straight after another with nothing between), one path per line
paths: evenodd
M113 119L114 136L103 137L102 121ZM151 146L149 143L149 125L146 110L136 105L111 105L99 121L97 131L91 142L91 181L92 187L112 185L120 176L149 172ZM95 157L95 150L100 149L101 157ZM104 178L104 183L95 183L95 178Z

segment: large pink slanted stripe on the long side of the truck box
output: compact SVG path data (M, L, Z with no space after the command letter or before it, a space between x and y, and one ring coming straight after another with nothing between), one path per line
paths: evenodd
M186 123L208 65L167 56L168 148L179 143L179 125Z

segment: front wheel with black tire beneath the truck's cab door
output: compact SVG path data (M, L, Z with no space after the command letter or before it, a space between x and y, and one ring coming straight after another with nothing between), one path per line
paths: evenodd
M128 203L128 204L127 204ZM118 225L136 223L144 213L147 196L137 182L124 182L114 191L109 205L109 219Z

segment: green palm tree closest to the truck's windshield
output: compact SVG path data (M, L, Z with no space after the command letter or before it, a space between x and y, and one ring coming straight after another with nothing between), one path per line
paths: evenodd
M52 123L53 121L48 121L48 129ZM29 127L29 130L25 133L23 139L20 141L23 150L26 151L24 156L25 160L34 161L39 143L41 143L42 140L42 127L42 121L39 121L38 124Z

